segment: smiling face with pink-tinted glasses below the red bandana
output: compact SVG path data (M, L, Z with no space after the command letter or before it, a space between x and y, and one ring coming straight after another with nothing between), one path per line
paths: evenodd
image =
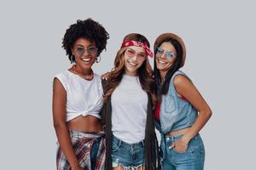
M137 69L143 65L147 54L142 47L130 46L125 50L125 74L130 76L137 75Z

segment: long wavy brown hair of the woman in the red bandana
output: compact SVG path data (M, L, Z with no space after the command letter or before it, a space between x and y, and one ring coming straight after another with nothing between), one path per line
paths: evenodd
M141 34L131 33L124 37L123 42L126 41L137 41L137 42L147 42L149 46L148 39ZM149 48L149 47L148 47ZM108 77L108 92L104 95L104 101L108 101L109 96L113 93L113 90L121 82L123 75L125 74L125 51L127 47L120 48L114 59L114 67L110 72ZM145 92L150 94L152 99L153 108L156 104L156 84L154 82L153 70L149 65L148 58L144 60L143 65L137 70L137 76Z

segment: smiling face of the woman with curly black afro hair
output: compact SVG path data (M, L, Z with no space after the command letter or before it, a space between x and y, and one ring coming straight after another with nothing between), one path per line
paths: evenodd
M96 44L80 37L74 43L72 53L77 67L83 70L90 70L91 65L96 61Z

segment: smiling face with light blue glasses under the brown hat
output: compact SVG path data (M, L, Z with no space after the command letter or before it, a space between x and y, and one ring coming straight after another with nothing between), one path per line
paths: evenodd
M176 62L177 51L171 42L163 42L159 48L156 49L155 64L160 74L167 73Z

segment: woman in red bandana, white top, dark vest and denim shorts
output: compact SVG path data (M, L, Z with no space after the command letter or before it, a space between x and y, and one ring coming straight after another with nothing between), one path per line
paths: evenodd
M146 37L125 36L113 71L103 82L108 170L160 167L153 115L156 86L148 63L152 55Z

